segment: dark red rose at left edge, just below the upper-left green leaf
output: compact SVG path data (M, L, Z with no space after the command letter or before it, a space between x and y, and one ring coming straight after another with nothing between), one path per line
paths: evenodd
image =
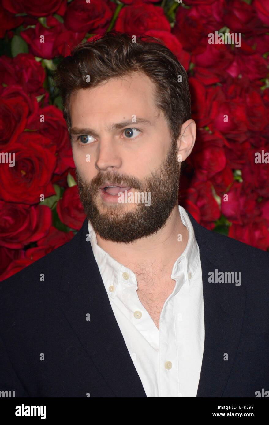
M44 80L44 68L31 54L19 53L13 59L5 55L0 58L1 84L19 84L27 93L38 96L45 93L42 87Z

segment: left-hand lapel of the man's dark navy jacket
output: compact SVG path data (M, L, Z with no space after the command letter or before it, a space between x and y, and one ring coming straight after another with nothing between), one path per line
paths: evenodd
M95 261L87 220L66 245L58 301L115 397L146 397ZM90 320L86 315L90 314ZM89 316L88 316L89 317Z

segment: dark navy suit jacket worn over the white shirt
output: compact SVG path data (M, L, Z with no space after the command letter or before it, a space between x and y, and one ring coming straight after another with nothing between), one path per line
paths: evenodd
M197 397L255 397L269 390L269 253L207 230L188 215L203 275ZM71 241L0 283L0 391L146 397L87 234L85 220ZM215 269L241 272L241 285L209 283Z

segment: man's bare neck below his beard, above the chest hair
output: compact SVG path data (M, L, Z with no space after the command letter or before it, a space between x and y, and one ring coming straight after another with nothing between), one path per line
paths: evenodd
M182 235L182 241L178 241L179 234ZM123 266L134 270L140 268L141 264L150 267L156 263L162 269L173 266L183 253L188 242L188 230L182 223L176 205L162 229L146 238L126 244L107 241L96 233L96 239L97 244Z

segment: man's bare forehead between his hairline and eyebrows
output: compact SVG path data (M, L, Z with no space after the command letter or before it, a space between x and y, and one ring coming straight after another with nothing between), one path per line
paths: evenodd
M86 117L91 117L91 121L101 116L109 119L115 113L156 116L154 89L152 80L139 72L109 79L94 88L79 89L70 97L72 126L82 124Z

